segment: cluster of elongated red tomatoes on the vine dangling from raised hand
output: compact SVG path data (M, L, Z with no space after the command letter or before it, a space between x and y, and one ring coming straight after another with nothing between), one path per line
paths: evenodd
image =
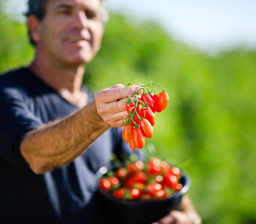
M132 150L145 146L145 139L152 138L156 123L155 112L162 112L169 104L166 91L159 94L145 93L126 102L128 117L122 130L122 138Z

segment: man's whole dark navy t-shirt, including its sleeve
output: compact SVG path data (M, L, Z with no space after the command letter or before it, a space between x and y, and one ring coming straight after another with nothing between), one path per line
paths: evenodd
M0 76L1 224L107 223L101 220L95 173L113 152L131 153L120 129L109 129L77 159L44 175L34 174L20 152L25 133L76 110L27 68Z

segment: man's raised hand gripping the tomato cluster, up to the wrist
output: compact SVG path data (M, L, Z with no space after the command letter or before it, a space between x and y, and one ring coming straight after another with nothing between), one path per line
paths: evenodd
M117 84L98 92L95 105L100 118L111 127L121 127L128 115L124 98L134 95L140 88L138 85L124 87Z

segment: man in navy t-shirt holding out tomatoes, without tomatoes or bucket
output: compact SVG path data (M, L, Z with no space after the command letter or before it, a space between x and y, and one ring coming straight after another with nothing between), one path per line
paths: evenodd
M131 153L118 128L127 116L124 100L116 99L139 86L114 85L93 97L82 85L100 49L101 0L29 0L28 6L35 57L0 77L0 223L106 223L95 173L112 153ZM181 216L185 223L197 218L194 210ZM170 214L162 222L179 219Z

